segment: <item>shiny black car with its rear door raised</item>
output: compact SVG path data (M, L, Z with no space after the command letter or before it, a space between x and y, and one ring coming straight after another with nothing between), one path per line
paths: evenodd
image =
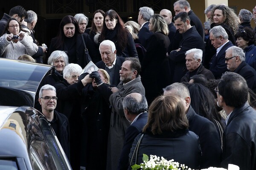
M71 170L51 125L33 108L55 67L0 58L0 170Z

